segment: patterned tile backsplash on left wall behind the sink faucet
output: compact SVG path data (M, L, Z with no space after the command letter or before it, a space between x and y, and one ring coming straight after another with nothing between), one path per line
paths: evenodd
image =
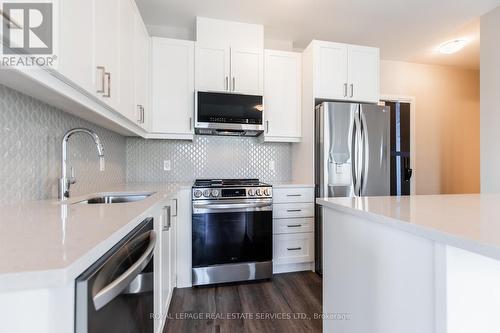
M0 74L1 75L1 74ZM0 203L57 198L61 140L75 127L96 131L104 145L105 171L99 171L93 140L75 134L68 141L68 170L77 183L71 194L106 189L125 181L126 138L0 85Z

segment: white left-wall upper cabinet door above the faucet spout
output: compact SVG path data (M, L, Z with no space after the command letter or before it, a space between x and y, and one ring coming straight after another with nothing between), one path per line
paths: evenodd
M97 96L118 109L120 1L95 1L94 39Z

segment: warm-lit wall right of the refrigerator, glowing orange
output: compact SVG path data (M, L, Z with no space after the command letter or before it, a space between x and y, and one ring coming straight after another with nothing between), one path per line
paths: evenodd
M380 87L416 99L416 193L479 192L479 71L383 60Z

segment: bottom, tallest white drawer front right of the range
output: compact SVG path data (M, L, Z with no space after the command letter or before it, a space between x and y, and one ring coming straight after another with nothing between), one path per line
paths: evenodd
M296 264L314 261L314 233L273 236L273 262Z

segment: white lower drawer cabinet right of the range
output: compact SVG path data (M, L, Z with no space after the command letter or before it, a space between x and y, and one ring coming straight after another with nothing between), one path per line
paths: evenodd
M314 268L314 186L273 188L273 272Z

